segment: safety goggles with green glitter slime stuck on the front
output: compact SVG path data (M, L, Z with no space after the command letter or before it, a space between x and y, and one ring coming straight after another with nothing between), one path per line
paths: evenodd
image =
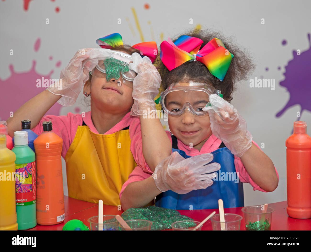
M108 65L108 67L114 68L112 71L114 71L115 73L113 74L112 78L117 78L117 76L119 76L119 73L121 73L123 83L124 80L133 82L134 78L137 76L137 73L128 68L128 64L132 62L132 56L124 52L112 51L112 57L118 61L122 61L122 63L120 62L120 64L118 64L117 61L115 61L112 62L112 64L107 64L108 63L107 60L99 61L98 65L96 65L96 67L91 71L91 75L94 77L107 79L107 73L109 73L109 70L106 69L106 67Z

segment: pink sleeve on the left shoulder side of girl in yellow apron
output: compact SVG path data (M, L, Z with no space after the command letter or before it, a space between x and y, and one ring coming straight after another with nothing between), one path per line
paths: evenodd
M44 121L51 121L53 132L63 139L62 157L64 158L76 135L78 126L82 125L81 115L72 113L67 115L46 115L31 130L40 135L43 132L42 123Z

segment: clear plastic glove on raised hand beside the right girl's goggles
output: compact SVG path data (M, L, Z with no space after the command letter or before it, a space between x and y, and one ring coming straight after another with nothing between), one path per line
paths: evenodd
M245 119L229 102L216 94L209 96L208 111L212 133L224 142L233 155L243 156L252 146L253 137L246 129Z

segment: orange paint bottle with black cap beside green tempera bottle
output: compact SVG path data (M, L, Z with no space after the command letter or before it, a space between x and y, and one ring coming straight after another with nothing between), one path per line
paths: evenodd
M34 141L37 165L37 223L54 225L64 221L62 172L63 139L43 123L43 133Z

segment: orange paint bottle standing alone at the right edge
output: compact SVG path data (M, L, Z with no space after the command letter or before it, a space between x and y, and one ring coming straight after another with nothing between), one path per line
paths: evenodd
M287 214L311 218L311 137L307 123L294 122L294 133L286 139Z

